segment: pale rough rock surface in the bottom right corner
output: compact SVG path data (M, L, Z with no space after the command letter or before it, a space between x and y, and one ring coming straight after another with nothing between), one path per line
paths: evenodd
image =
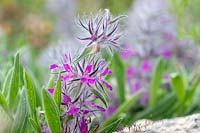
M139 120L116 133L200 133L200 114L155 122Z

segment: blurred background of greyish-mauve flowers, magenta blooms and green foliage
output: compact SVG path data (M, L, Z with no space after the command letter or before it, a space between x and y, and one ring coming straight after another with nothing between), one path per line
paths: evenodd
M0 0L0 86L17 51L37 85L44 85L49 64L80 47L76 17L107 8L128 17L121 23L122 50L108 58L116 91L104 119L140 89L145 91L124 124L199 112L199 5L199 0Z

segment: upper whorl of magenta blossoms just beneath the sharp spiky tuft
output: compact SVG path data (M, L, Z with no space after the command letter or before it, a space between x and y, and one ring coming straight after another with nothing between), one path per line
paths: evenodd
M68 58L65 59L66 62L64 64L52 64L50 66L51 70L61 69L62 81L69 83L79 81L86 85L95 85L96 87L103 85L109 90L112 90L112 86L106 80L104 80L104 77L112 74L112 71L105 64L103 59L95 59L95 56L93 56L89 61L87 61L87 59L83 59L78 63L72 63Z

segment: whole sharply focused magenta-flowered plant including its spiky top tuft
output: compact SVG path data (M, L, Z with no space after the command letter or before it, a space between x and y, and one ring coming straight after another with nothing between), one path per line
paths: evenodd
M81 133L97 130L98 122L95 127L90 125L95 117L106 111L108 91L112 91L113 87L105 78L111 75L112 71L101 53L93 51L94 47L90 45L96 44L99 49L101 44L108 44L110 49L111 46L119 48L117 40L120 35L117 29L120 18L121 16L113 18L110 12L105 10L88 19L79 19L79 24L90 34L90 37L80 38L80 40L89 40L85 49L92 50L86 54L83 52L78 57L66 53L60 63L50 65L54 78L50 80L48 90L44 93L55 100L59 114L57 118L60 119L58 121L61 127L61 129L58 127L58 130ZM45 106L47 105L44 103L44 112L47 111ZM41 121L42 129L53 131L48 114L45 116L47 123L45 120Z

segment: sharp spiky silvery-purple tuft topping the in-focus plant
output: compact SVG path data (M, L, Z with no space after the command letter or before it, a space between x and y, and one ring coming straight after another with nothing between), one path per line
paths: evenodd
M111 46L119 47L119 38L121 33L119 31L119 20L124 16L113 17L108 9L99 11L94 17L85 16L79 19L78 24L89 34L86 37L79 38L80 40L88 41L88 45L94 42L97 44L106 44L109 48Z

